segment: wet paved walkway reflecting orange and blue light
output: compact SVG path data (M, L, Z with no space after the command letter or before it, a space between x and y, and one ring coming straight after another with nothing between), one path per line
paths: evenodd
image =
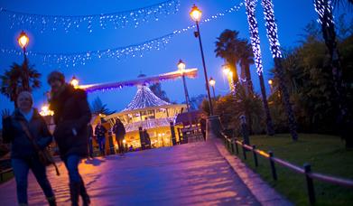
M110 155L79 165L92 205L260 205L222 152L212 142L176 145L124 157ZM70 205L68 175L48 168L58 205ZM45 205L42 190L29 175L30 205ZM0 185L1 205L14 205L14 180Z

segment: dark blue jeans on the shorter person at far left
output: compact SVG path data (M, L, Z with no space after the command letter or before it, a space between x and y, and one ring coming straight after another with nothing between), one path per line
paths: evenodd
M14 169L14 178L16 180L17 201L19 204L28 204L27 187L28 172L31 169L37 182L42 187L45 197L54 196L49 183L45 166L39 162L38 158L29 157L28 159L12 159L11 164Z

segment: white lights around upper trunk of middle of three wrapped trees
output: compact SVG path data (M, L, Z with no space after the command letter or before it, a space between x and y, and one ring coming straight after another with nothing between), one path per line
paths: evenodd
M265 14L267 38L270 41L270 50L273 58L282 58L280 42L278 41L277 23L274 21L274 5L272 0L262 0Z

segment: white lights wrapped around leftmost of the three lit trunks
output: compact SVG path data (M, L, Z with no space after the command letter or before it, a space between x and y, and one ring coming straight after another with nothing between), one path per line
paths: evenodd
M264 69L260 47L260 36L258 34L258 25L255 17L255 5L257 4L257 0L246 0L245 4L247 23L249 24L251 46L253 48L255 57L256 72L257 75L260 76L263 74Z

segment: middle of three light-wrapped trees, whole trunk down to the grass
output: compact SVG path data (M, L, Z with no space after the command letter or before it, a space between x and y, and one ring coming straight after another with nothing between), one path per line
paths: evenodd
M280 42L278 41L277 24L274 20L274 5L272 4L272 0L262 0L262 6L265 14L267 38L270 42L270 50L274 58L274 67L279 80L279 88L281 89L284 108L288 116L289 130L291 132L292 139L296 141L298 139L297 126L293 114L293 108L289 101L288 89L284 83L282 53L280 50Z

